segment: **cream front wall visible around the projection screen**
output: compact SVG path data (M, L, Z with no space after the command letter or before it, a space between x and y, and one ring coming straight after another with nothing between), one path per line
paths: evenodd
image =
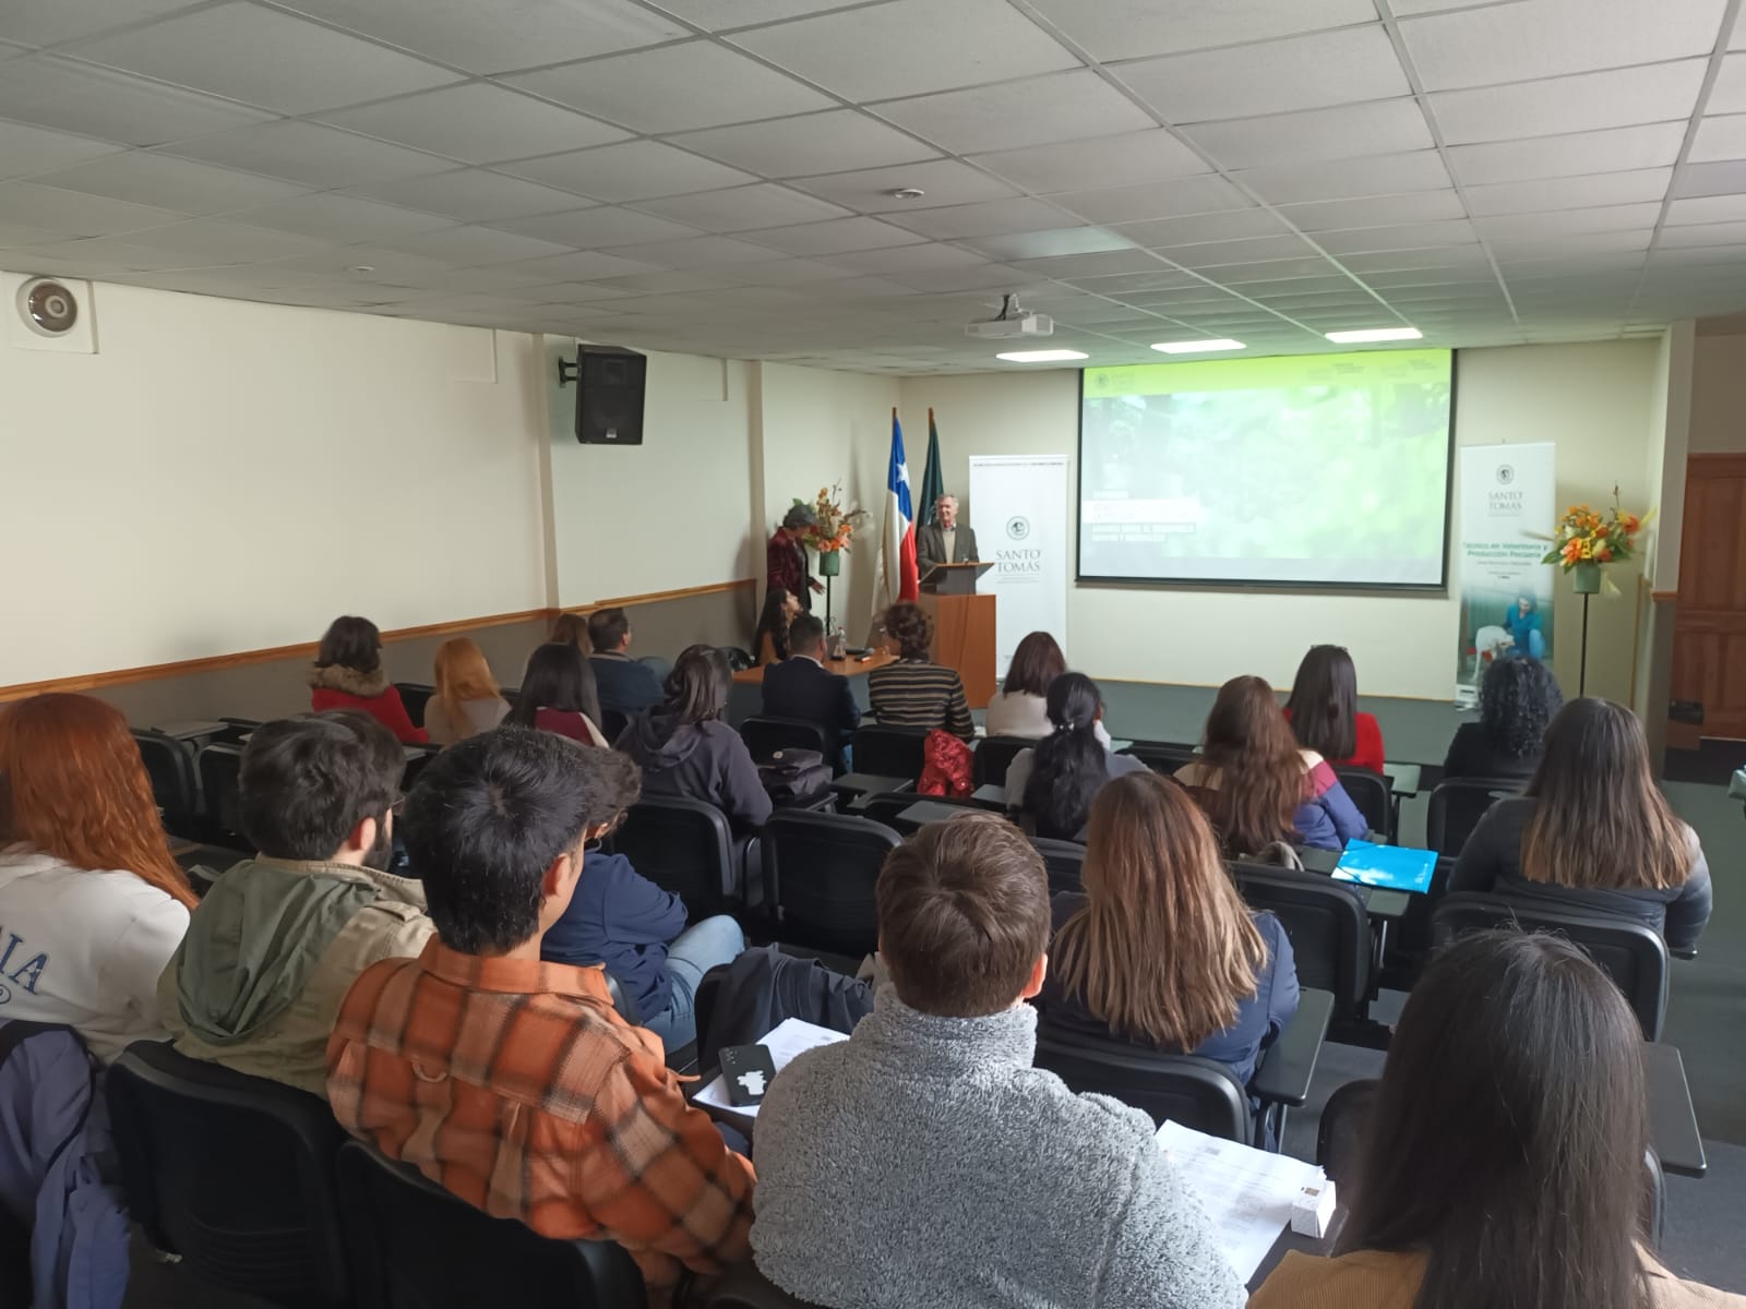
M1641 340L1461 351L1456 442L1552 440L1561 506L1608 503L1617 480L1626 508L1645 510L1657 349L1655 340ZM904 379L904 415L925 414L929 405L948 487L966 485L973 454L1077 457L1079 379L1072 370ZM985 532L976 506L966 508L978 534ZM1460 506L1451 522L1458 513ZM1589 689L1627 700L1636 578L1617 576L1626 599L1592 606ZM1351 649L1364 693L1447 700L1458 607L1442 595L1070 585L1067 649L1093 677L1215 686L1255 672L1289 686L1303 651L1332 641ZM1571 691L1580 630L1580 602L1561 581L1554 648Z

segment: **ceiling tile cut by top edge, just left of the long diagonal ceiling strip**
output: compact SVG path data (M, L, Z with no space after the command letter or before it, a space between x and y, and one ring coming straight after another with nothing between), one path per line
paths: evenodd
M1234 45L1257 33L1287 37L1376 21L1371 0L1032 0L1032 5L1105 61Z

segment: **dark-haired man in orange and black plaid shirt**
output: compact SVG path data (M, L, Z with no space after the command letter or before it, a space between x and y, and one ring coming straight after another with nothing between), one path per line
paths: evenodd
M588 754L503 728L421 773L405 834L438 935L358 977L328 1094L346 1131L470 1204L618 1241L663 1304L679 1262L744 1258L753 1166L686 1105L660 1040L618 1018L599 969L540 960L585 876Z

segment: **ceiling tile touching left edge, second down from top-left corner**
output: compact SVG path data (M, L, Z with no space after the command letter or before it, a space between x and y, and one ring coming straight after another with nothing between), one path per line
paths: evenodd
M269 117L194 91L49 56L7 63L0 115L126 145L164 145Z

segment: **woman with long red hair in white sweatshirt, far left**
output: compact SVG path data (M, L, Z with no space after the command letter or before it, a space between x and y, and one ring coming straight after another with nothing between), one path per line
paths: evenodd
M157 977L194 902L119 710L0 710L0 1023L66 1023L103 1063L168 1038Z

